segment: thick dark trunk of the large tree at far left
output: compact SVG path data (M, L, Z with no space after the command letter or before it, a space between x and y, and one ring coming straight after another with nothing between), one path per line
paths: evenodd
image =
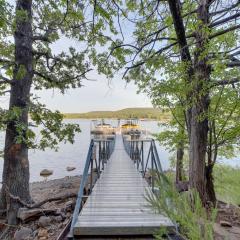
M9 110L20 109L20 116L8 122L4 149L3 187L1 207L7 208L9 224L17 223L20 203L9 193L25 202L30 201L28 147L24 141L16 142L20 135L26 137L30 88L33 77L32 55L32 0L18 0L16 4L15 67L11 87ZM22 134L18 126L26 128Z

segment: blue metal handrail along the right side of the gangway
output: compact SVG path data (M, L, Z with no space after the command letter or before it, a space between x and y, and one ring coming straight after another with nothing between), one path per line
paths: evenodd
M141 172L142 177L145 178L147 171L149 169L151 170L150 185L152 187L152 191L154 192L154 174L156 173L160 176L163 172L155 140L152 138L128 140L123 135L123 143L126 152L136 164L136 167L138 171ZM145 155L145 153L147 154Z

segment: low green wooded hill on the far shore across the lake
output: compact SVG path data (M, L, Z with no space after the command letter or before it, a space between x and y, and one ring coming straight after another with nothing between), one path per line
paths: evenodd
M169 112L164 112L155 108L125 108L118 111L92 111L87 113L65 113L65 118L85 118L85 119L95 119L95 118L143 118L143 119L157 119L157 120L167 120L170 118Z

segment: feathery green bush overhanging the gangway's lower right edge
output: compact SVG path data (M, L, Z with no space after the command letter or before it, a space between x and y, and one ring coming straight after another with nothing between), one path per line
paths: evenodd
M209 216L196 191L178 193L165 175L159 178L158 188L159 195L148 194L147 200L157 212L178 225L179 235L183 239L213 240L213 224L217 212L213 209ZM162 239L164 234L166 229L160 229L156 238Z

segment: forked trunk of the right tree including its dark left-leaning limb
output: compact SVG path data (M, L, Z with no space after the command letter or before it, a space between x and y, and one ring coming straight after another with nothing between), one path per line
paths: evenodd
M179 0L168 0L168 3L178 38L181 60L189 66L187 82L192 88L187 93L187 101L191 106L187 110L187 130L190 142L189 183L191 188L198 191L203 204L206 204L205 156L208 140L207 113L209 107L209 93L206 89L210 79L210 67L207 56L204 56L204 54L206 55L205 50L208 43L206 27L209 24L209 1L198 1L199 26L195 31L194 62L187 44L185 26L181 16L181 2Z

